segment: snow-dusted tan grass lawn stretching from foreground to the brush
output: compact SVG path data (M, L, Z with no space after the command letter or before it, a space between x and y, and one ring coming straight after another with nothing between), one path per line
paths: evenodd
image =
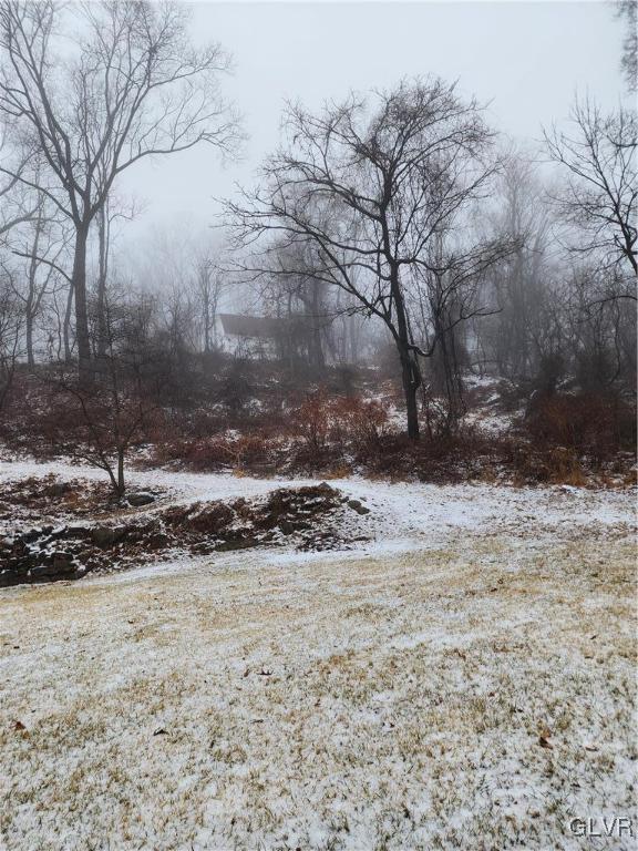
M0 592L0 848L634 848L632 494L332 483L359 551Z

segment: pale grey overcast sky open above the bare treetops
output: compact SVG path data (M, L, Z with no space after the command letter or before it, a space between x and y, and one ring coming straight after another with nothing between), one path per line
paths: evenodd
M566 116L576 91L609 106L624 93L622 27L608 2L196 2L193 34L231 52L224 88L249 139L226 166L200 147L127 173L121 188L145 203L130 237L212 222L214 196L250 183L276 146L286 99L318 107L351 88L434 73L490 102L497 129L533 141Z

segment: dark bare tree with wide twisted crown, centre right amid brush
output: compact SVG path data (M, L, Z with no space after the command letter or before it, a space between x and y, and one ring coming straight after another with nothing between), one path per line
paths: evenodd
M287 146L267 161L264 185L227 211L241 244L264 235L278 237L277 249L282 240L306 244L318 258L315 277L385 324L401 365L408 434L418 439L419 357L432 349L414 339L409 283L431 268L434 236L487 192L497 168L494 134L476 102L439 79L402 82L371 101L372 112L356 95L318 115L289 106Z

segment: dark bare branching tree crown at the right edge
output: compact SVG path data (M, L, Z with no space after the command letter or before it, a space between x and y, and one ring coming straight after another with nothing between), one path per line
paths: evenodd
M582 233L578 245L569 247L597 254L604 265L624 266L636 275L636 114L620 106L605 115L589 100L577 101L572 125L572 133L555 129L545 133L549 156L566 172L556 203Z

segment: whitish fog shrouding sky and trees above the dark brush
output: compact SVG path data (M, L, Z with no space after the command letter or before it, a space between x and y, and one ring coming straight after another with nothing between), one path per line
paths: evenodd
M475 370L625 393L635 12L1 3L7 387L134 340L179 392L392 361L411 439L463 427Z

